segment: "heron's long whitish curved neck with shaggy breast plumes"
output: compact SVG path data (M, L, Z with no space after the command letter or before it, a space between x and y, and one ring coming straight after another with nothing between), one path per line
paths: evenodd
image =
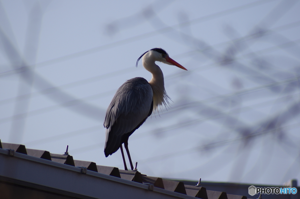
M149 84L153 91L153 111L157 111L158 106L167 106L169 104L168 99L170 99L165 91L164 74L161 71L161 68L155 64L155 61L154 56L151 56L151 51L147 52L143 56L144 68L152 73L152 78L149 81Z

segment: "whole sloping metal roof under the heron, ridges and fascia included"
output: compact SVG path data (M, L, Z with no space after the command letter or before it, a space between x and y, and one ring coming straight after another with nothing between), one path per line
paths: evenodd
M23 190L20 193L29 194L30 189L54 198L247 198L1 141L0 183L12 190L9 194L13 196L18 186Z

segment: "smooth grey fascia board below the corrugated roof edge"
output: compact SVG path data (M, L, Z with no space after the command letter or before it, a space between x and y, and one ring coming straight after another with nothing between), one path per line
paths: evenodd
M23 182L22 186L27 187L27 189L42 189L52 193L60 193L71 198L193 198L156 187L151 191L148 185L94 171L87 170L86 174L82 174L81 169L78 167L22 153L14 153L14 156L11 156L10 151L4 149L0 149L0 162L4 163L0 167L1 182L18 180L19 182ZM3 178L7 180L5 181Z

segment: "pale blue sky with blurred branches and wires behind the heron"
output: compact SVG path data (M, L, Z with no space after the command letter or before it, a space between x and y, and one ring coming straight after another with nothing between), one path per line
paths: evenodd
M141 173L300 179L298 1L0 2L2 142L123 169L120 151L104 156L104 114L127 79L151 79L135 64L161 47L188 71L157 63L173 102L129 138Z

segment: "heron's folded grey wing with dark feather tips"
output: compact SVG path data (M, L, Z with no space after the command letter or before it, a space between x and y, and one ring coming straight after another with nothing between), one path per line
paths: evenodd
M152 103L152 88L144 78L130 79L117 90L104 120L105 156L115 153L122 144L122 136L146 120Z

